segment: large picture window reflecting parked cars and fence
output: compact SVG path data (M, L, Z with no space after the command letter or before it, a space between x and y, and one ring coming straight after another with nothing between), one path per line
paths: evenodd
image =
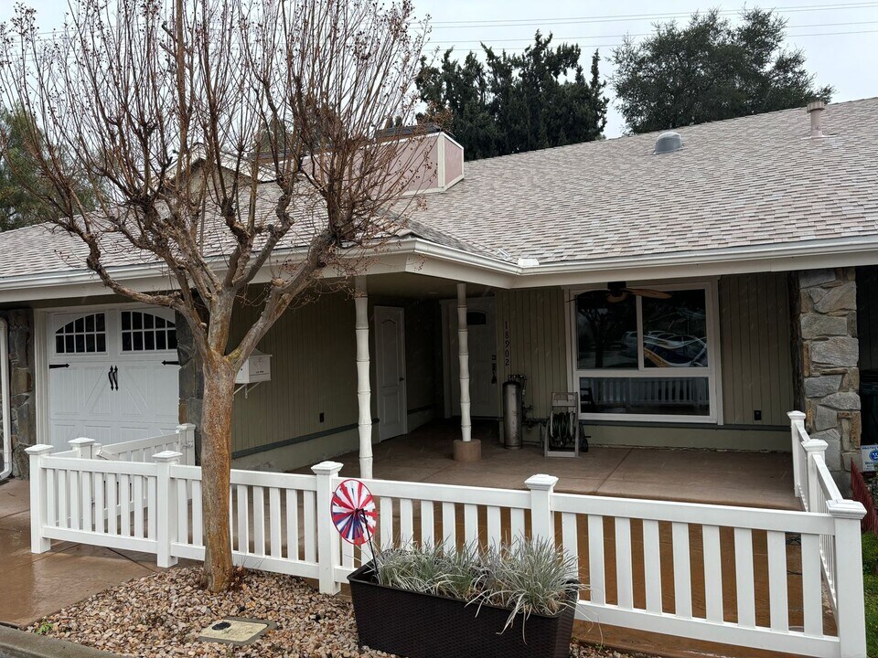
M584 418L716 419L708 284L578 292L574 377Z

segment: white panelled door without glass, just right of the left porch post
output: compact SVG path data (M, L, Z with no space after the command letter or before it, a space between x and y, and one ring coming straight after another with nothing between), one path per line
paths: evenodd
M401 308L375 307L375 376L378 383L378 436L408 431L405 399L405 316Z

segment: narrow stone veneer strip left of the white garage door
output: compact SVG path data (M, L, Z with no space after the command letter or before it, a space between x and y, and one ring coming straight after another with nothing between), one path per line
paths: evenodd
M12 430L13 473L29 474L25 448L37 442L37 403L34 379L34 312L32 309L0 311L9 325L9 402ZM3 407L0 406L0 414ZM3 434L0 425L0 435Z

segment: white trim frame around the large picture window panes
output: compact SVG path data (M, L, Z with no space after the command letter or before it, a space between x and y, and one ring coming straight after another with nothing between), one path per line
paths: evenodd
M638 288L650 288L652 290L674 292L681 290L703 290L704 304L707 311L707 363L704 368L645 368L643 365L643 333L637 335L637 368L613 370L610 368L578 368L578 345L576 334L575 300L583 292L605 290L603 285L582 286L569 288L567 295L569 302L567 308L567 350L568 350L568 373L570 376L571 390L576 392L579 399L580 377L707 377L709 413L706 416L671 415L671 414L620 414L620 413L587 413L580 411L579 418L584 420L617 420L621 422L655 422L655 423L691 423L691 424L723 424L723 411L720 396L722 395L722 372L720 366L720 334L719 334L719 296L717 281L679 281L674 283L642 283L637 282ZM637 301L637 328L642 325L641 305ZM668 371L668 372L666 372ZM582 409L580 406L579 409Z

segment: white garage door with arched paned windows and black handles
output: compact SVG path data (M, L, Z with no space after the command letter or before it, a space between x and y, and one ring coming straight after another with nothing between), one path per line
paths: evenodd
M48 322L52 444L104 445L175 430L179 366L174 313L146 307L53 313Z

